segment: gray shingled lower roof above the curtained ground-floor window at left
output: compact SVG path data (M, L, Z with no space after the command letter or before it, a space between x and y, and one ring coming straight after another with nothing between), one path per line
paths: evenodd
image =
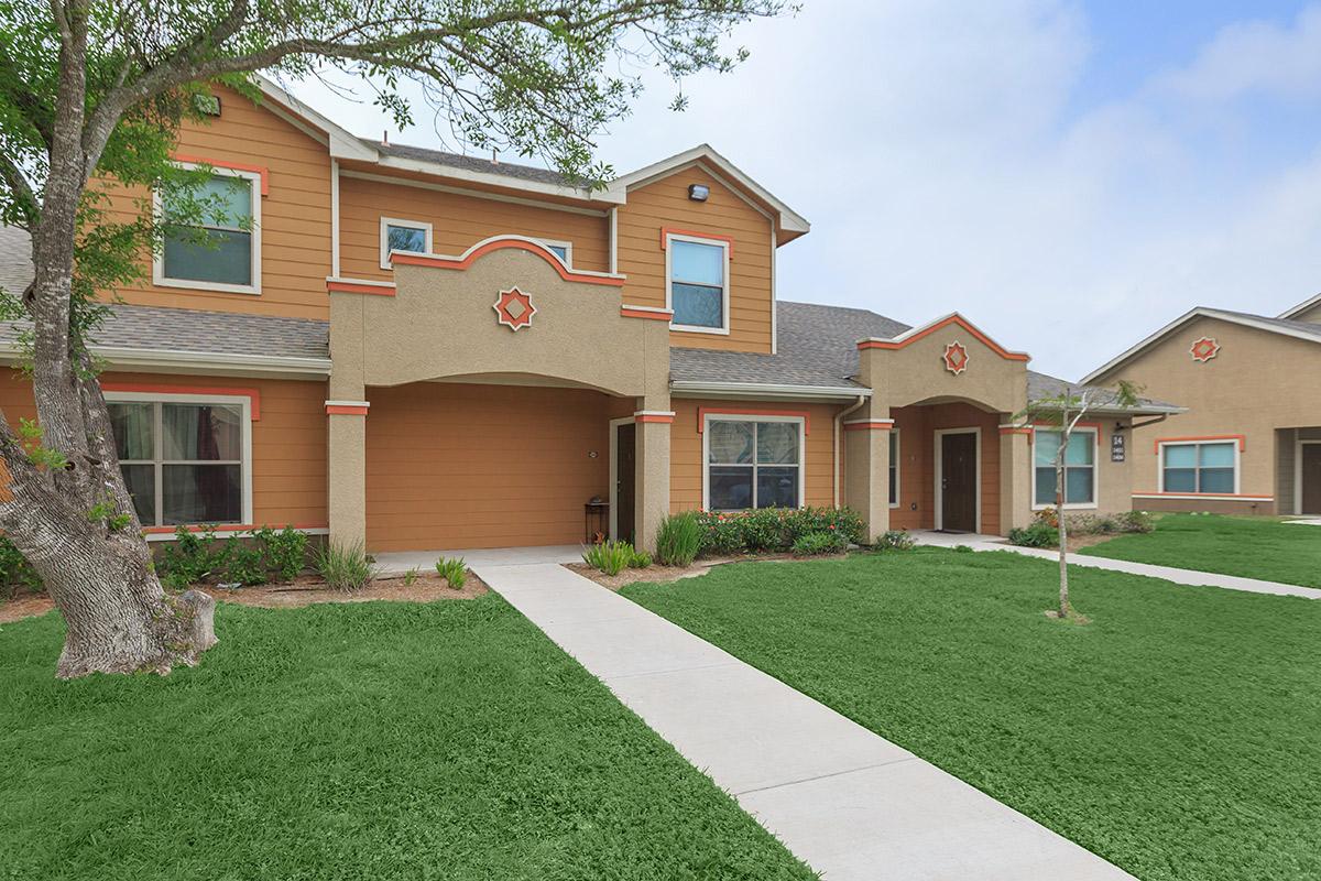
M0 322L0 343L13 343L26 321ZM276 358L329 358L330 322L201 309L110 306L94 334L98 346Z

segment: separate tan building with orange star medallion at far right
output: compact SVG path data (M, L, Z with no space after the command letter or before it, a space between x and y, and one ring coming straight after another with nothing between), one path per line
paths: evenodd
M1321 514L1321 296L1277 318L1199 306L1083 382L1188 412L1133 453L1133 507Z

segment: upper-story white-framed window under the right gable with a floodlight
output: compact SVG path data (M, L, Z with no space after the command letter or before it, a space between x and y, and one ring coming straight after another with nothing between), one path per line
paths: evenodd
M666 234L666 308L675 330L729 333L728 242Z

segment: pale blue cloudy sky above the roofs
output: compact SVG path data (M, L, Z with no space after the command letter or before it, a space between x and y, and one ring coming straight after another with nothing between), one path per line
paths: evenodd
M1321 291L1321 0L802 0L731 74L647 91L597 157L708 143L812 223L782 300L964 314L1077 379L1196 305ZM295 91L359 133L454 149L425 111ZM505 157L518 161L518 157Z

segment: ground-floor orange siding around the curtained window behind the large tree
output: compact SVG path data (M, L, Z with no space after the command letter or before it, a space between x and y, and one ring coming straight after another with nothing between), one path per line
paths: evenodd
M255 388L262 417L252 423L252 519L264 526L326 526L326 417L324 382L111 372L106 382ZM0 369L0 408L11 425L36 417L32 384Z

